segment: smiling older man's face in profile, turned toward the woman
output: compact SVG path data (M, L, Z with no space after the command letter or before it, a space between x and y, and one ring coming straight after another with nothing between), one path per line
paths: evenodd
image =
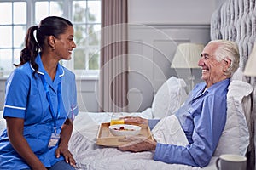
M224 69L226 69L224 60L218 62L214 56L214 52L217 48L217 43L207 44L201 53L201 59L198 61L198 65L201 66L202 69L201 79L207 82L207 88L226 78L224 75Z

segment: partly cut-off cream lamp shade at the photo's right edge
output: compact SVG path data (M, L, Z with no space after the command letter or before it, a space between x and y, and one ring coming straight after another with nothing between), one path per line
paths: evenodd
M256 76L256 46L254 45L252 53L249 55L243 74L249 77Z

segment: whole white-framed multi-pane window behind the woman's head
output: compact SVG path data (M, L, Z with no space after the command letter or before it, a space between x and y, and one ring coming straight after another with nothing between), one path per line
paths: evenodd
M20 63L26 30L49 15L73 22L77 48L62 61L79 77L96 76L100 60L101 0L2 0L0 2L0 77ZM4 17L2 17L4 16Z

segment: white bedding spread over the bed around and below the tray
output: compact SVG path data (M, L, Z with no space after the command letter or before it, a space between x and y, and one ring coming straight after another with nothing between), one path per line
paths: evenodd
M150 111L134 113L132 116L143 116L152 118ZM96 134L101 122L109 122L110 113L80 112L74 121L74 130L70 139L69 147L77 161L77 168L81 170L105 170L105 169L183 169L194 170L200 167L186 165L167 164L152 159L154 153L151 151L131 153L120 151L112 147L103 147L96 144ZM207 167L202 169L216 169L216 157Z

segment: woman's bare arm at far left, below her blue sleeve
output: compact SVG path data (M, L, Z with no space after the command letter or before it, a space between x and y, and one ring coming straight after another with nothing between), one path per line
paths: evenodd
M23 136L24 119L7 116L6 122L9 141L18 154L33 170L46 170L44 164L33 153Z

